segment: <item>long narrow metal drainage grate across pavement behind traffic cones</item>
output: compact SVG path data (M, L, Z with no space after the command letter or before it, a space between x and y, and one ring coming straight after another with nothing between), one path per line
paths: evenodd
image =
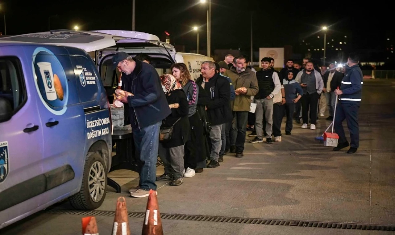
M80 216L115 216L114 211L103 211L103 210L51 209L51 210L46 210L45 213L72 214L72 215L80 215ZM128 216L130 218L145 218L145 212L128 212ZM384 225L384 224L354 224L354 223L318 222L318 221L304 221L304 220L273 220L273 219L201 216L201 215L186 215L186 214L160 214L160 217L164 220L188 220L188 221L221 222L221 223L235 223L235 224L264 224L264 225L282 225L282 226L297 226L297 227L322 227L322 228L333 228L333 229L395 231L395 226Z

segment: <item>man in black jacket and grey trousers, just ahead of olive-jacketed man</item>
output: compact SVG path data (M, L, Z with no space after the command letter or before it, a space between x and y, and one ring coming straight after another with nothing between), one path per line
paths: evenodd
M216 73L213 61L204 61L200 68L202 77L198 78L196 83L210 94L210 101L206 105L206 110L211 122L211 161L207 168L216 168L220 165L218 160L222 147L222 124L233 119L229 106L230 85L224 76Z

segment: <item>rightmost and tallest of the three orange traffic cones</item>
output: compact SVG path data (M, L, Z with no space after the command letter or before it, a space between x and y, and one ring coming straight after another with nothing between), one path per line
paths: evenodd
M143 224L142 235L163 235L162 220L160 220L158 199L156 191L150 190L147 202L147 211Z

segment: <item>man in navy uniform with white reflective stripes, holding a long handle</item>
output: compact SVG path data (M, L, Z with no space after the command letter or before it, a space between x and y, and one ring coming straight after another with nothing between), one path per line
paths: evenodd
M336 108L335 123L333 125L337 135L339 135L339 143L337 147L333 148L333 151L339 151L350 145L346 139L342 124L344 119L346 119L348 131L350 131L351 135L351 148L347 151L348 154L354 154L359 147L358 110L362 100L363 75L358 63L358 55L350 53L342 85L340 89L335 90L335 94L340 96L340 103Z

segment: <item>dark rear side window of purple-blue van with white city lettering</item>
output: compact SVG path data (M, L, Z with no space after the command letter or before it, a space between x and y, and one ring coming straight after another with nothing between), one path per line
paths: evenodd
M96 100L101 93L98 72L91 59L82 56L71 57L77 79L77 90L81 103Z

